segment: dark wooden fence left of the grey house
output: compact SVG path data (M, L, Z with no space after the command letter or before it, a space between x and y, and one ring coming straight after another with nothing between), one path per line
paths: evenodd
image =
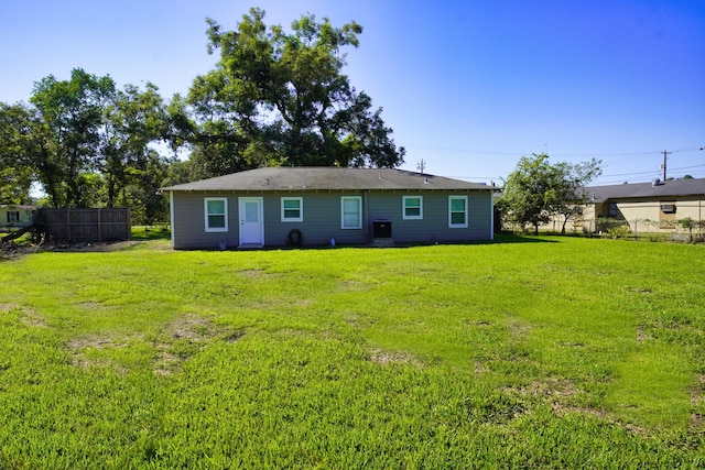
M55 241L97 242L129 240L129 208L41 209L46 233Z

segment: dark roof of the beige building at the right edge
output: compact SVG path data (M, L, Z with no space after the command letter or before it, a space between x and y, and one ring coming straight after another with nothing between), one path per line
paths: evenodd
M665 182L655 179L653 183L589 186L585 189L593 203L604 203L607 199L702 196L705 195L705 178L668 179Z

